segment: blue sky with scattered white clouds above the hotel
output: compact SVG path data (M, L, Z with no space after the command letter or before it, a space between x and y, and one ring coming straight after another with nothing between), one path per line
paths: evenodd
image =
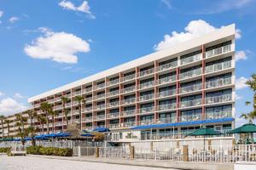
M253 0L0 0L0 11L2 114L25 109L30 96L153 53L161 41L183 41L172 31L193 37L196 29L232 23L240 35L236 112L250 109L244 102L253 93L242 82L256 72Z

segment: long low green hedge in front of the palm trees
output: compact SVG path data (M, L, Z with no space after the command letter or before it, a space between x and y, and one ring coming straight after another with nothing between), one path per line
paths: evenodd
M73 150L54 147L29 146L26 148L26 153L45 156L72 156Z

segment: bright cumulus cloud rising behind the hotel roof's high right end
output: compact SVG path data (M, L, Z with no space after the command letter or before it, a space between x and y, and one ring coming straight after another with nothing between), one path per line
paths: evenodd
M195 37L201 37L217 29L218 28L211 26L205 20L192 20L189 22L188 26L184 28L184 31L172 31L171 35L166 34L163 41L154 45L154 50L159 51L164 48L170 48L177 43L186 42ZM240 30L237 29L236 34L236 37L241 38Z

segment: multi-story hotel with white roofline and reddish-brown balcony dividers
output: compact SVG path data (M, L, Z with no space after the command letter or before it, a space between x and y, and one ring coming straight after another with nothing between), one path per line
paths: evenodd
M200 127L229 130L235 121L235 25L28 99L38 114L44 114L41 103L53 105L55 133L67 128L62 96L69 99L68 122L109 128L113 141L178 139ZM85 99L81 119L75 96Z

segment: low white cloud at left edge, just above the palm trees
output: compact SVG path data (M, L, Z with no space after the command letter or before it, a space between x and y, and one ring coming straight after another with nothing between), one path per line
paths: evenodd
M25 111L29 107L22 103L17 102L15 99L6 98L0 100L0 113L4 116L9 116L20 111Z

